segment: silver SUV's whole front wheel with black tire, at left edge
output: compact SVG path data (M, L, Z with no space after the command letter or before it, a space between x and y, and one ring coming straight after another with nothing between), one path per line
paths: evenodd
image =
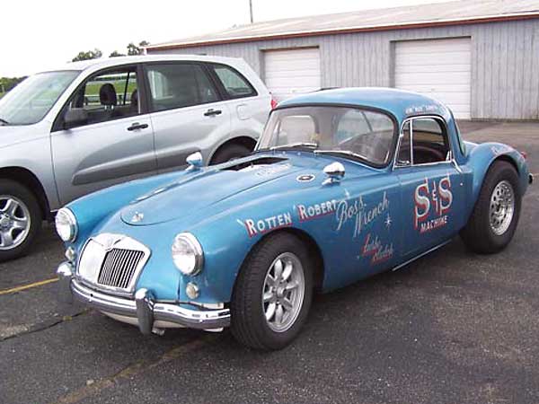
M0 261L25 254L40 231L40 204L29 189L0 180Z

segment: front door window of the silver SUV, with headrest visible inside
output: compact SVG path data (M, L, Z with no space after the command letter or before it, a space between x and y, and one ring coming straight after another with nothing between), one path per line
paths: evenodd
M66 113L69 110L84 111L84 120L75 126L138 115L137 68L107 71L89 77L75 92Z

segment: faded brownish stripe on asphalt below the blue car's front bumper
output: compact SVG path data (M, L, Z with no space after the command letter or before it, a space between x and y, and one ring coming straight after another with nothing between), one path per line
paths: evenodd
M204 347L212 342L215 342L216 339L217 336L214 334L202 338L198 337L196 339L190 340L185 344L182 344L181 346L173 347L172 349L163 353L162 356L158 356L154 360L141 360L134 364L130 364L120 370L118 373L112 374L110 377L101 379L97 382L86 382L86 385L84 387L60 397L57 401L54 402L54 404L76 404L77 402L92 397L93 395L103 390L114 387L122 380L126 380L132 376L136 376L137 374L140 374L147 369L153 369L160 364L170 362L191 351L199 349L199 347Z

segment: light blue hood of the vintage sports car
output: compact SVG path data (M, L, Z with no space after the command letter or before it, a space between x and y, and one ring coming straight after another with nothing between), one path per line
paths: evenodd
M120 216L126 224L150 225L196 215L205 209L205 215L215 215L224 206L249 204L261 198L261 194L276 195L296 189L302 180L308 183L316 178L312 184L321 182L326 178L323 167L334 160L308 153L255 154L182 176L181 180L137 198L121 210ZM353 165L356 175L373 173L367 167ZM260 191L261 186L264 192Z

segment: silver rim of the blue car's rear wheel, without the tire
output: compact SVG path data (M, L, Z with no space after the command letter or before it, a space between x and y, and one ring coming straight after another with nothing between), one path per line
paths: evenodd
M496 235L508 231L515 212L515 191L508 180L500 181L490 196L490 228Z

